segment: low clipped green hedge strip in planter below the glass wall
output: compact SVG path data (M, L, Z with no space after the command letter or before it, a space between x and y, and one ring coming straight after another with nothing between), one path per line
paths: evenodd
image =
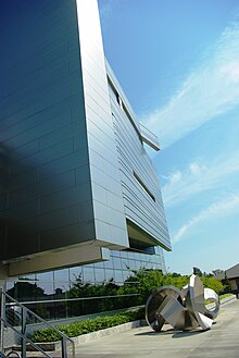
M86 321L74 322L71 324L59 325L56 329L68 337L76 337L81 334L108 329L118 324L142 319L144 309L135 311L125 311L115 316L103 316ZM61 338L60 334L51 329L38 330L29 336L33 342L55 342Z

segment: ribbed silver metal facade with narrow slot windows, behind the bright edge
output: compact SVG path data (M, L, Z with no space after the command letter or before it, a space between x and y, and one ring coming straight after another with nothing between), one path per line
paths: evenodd
M169 235L155 169L143 147L139 122L109 63L106 67L130 246L142 249L160 245L169 250ZM152 146L155 146L154 143Z

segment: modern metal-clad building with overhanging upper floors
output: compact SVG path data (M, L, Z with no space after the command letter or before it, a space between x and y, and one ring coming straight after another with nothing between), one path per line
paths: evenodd
M165 271L158 138L105 60L97 0L1 1L0 16L2 282L52 295L78 274Z

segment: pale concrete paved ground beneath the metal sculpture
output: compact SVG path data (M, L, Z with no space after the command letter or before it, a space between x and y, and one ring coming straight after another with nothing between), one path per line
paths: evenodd
M239 358L239 300L221 307L210 331L161 333L150 328L81 344L77 358Z

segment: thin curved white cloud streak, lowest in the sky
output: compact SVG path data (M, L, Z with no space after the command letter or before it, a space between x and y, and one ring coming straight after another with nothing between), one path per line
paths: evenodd
M172 243L175 244L187 238L187 236L189 236L189 234L193 232L193 230L196 230L199 224L202 225L202 223L205 221L211 221L215 218L225 217L230 214L231 212L235 213L236 210L239 210L239 194L231 195L225 200L212 203L210 207L207 207L198 215L193 217L186 224L184 224L173 236Z

